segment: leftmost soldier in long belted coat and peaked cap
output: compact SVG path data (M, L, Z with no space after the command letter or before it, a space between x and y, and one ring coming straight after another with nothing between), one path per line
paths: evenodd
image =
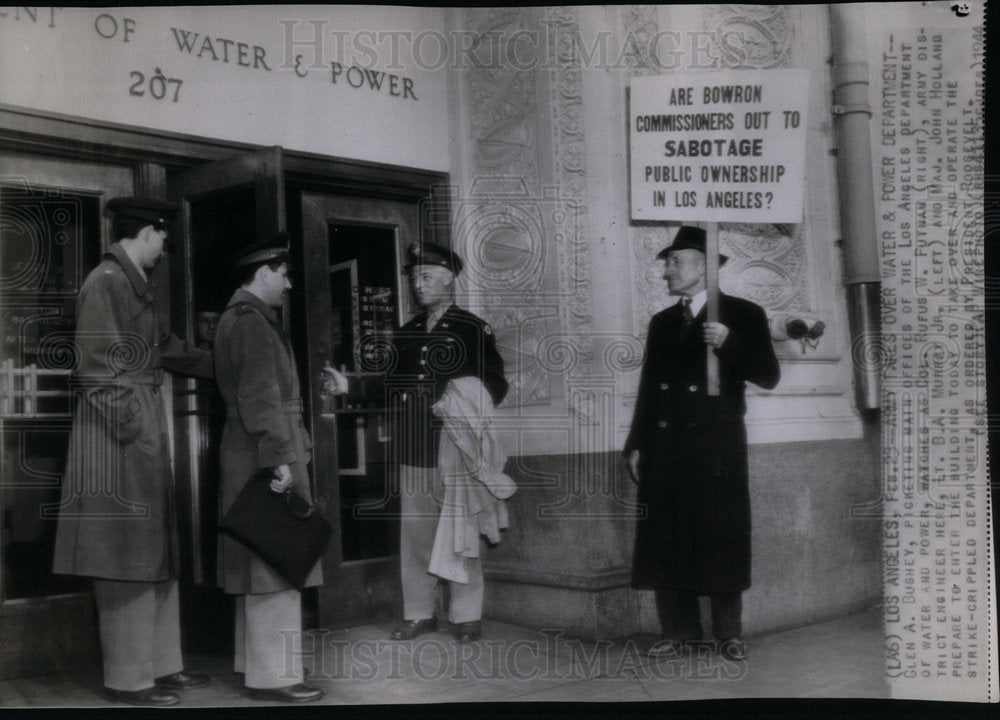
M108 201L113 243L77 301L77 404L53 572L94 578L105 694L172 705L208 683L184 672L179 553L164 368L211 377L212 358L170 334L148 273L176 206Z

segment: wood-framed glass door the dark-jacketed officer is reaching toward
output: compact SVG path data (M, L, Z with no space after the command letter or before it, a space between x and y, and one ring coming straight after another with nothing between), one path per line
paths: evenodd
M413 315L402 266L419 212L416 200L300 200L313 467L335 522L319 613L323 626L343 627L401 616L398 482L385 409L324 398L318 380L326 362L356 383L377 375L385 341Z

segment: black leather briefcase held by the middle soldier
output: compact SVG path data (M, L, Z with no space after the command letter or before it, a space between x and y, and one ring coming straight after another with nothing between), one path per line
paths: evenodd
M323 554L333 528L315 503L292 490L272 492L273 477L271 471L255 473L219 527L301 590L309 571Z

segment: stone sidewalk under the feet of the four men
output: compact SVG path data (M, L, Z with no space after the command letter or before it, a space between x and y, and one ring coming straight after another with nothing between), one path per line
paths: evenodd
M750 657L739 663L710 643L652 660L652 635L589 642L487 621L482 641L459 644L446 630L393 642L391 628L312 631L289 656L326 690L328 705L889 696L880 609L750 638ZM178 709L268 704L244 695L229 658L195 655L187 664L213 682L184 693ZM0 707L123 706L103 698L100 669L87 668L0 682Z

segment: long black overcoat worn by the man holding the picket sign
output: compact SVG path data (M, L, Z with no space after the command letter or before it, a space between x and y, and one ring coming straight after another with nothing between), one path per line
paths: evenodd
M750 587L750 490L743 416L747 382L770 389L780 370L764 311L720 295L729 328L719 395L706 392L705 308L685 324L680 303L653 316L626 457L639 451L632 586L701 595Z

